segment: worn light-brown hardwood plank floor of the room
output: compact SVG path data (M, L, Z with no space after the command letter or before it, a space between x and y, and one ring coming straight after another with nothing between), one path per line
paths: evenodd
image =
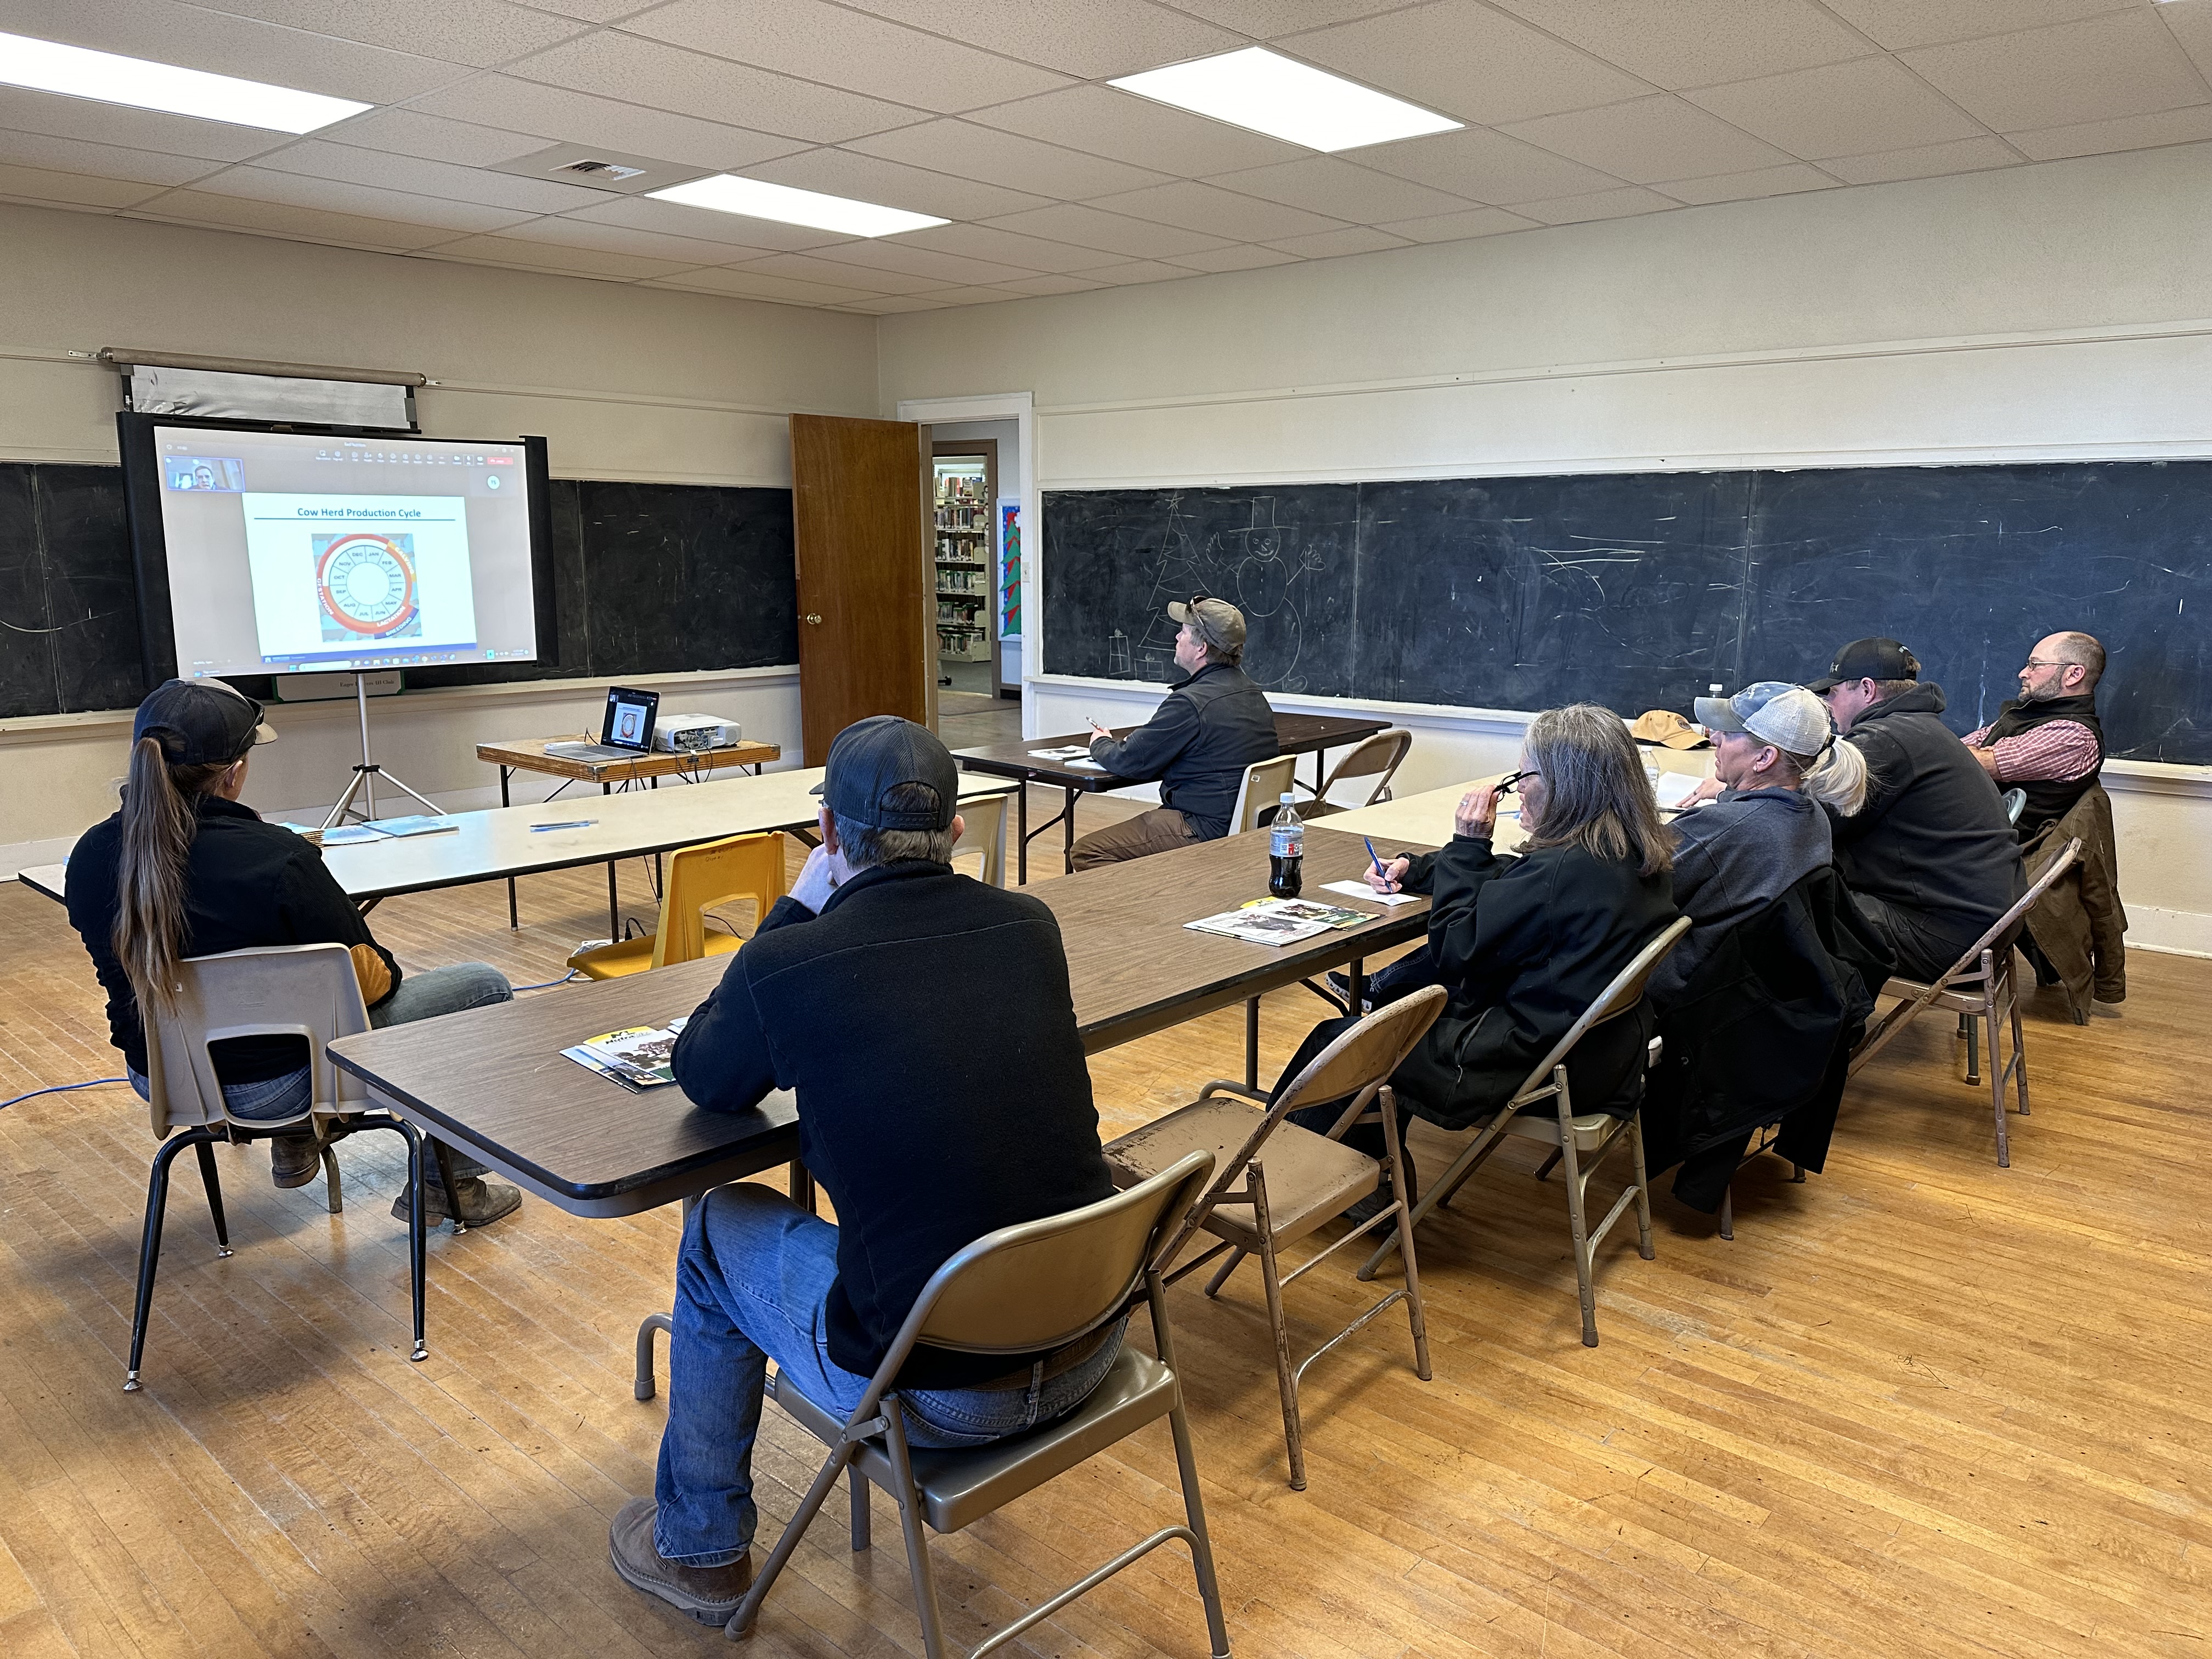
M1113 812L1095 805L1086 825ZM639 860L624 891L650 916ZM604 931L604 896L597 872L542 876L520 933L498 885L374 925L409 967L535 982ZM2212 1652L2212 962L2132 969L2124 1015L2035 1009L2011 1170L1927 1020L1854 1088L1825 1175L1745 1172L1734 1243L1663 1197L1657 1261L1608 1243L1597 1349L1557 1186L1509 1148L1422 1237L1436 1380L1391 1316L1310 1374L1307 1493L1283 1484L1254 1272L1221 1303L1177 1287L1237 1652ZM1270 1066L1321 1011L1267 1000ZM1239 1018L1214 1015L1095 1057L1108 1133L1239 1053ZM60 907L7 885L0 1099L117 1071ZM95 1088L0 1113L0 1655L723 1652L606 1566L608 1517L653 1486L664 1407L630 1398L628 1354L668 1303L675 1210L577 1221L533 1199L434 1234L431 1358L409 1365L383 1139L341 1152L343 1217L226 1148L230 1261L184 1166L126 1396L144 1106ZM1438 1137L1416 1150L1440 1168ZM1360 1301L1323 1267L1290 1305L1314 1332ZM768 1526L812 1467L770 1411ZM1172 1491L1150 1429L940 1540L953 1639L1161 1524ZM757 1650L920 1652L896 1540L880 1506L872 1555L821 1524ZM1203 1655L1188 1559L1157 1551L1020 1648Z

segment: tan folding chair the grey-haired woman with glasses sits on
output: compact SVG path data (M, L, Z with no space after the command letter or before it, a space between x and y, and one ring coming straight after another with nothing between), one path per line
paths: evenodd
M1475 1130L1475 1137L1460 1150L1444 1170L1444 1177L1436 1181L1427 1192L1420 1194L1420 1203L1413 1206L1413 1214L1402 1232L1394 1239L1385 1239L1383 1245L1367 1259L1360 1267L1360 1279L1374 1279L1376 1267L1389 1256L1400 1241L1411 1241L1413 1228L1442 1203L1451 1203L1451 1194L1458 1192L1467 1177L1482 1168L1491 1152L1495 1152L1509 1135L1526 1141L1544 1141L1553 1148L1553 1157L1537 1170L1542 1181L1551 1175L1553 1164L1566 1164L1566 1223L1575 1237L1575 1281L1582 1290L1582 1345L1597 1347L1597 1292L1593 1285L1593 1272L1597 1263L1597 1245L1606 1241L1613 1223L1621 1219L1621 1210L1632 1201L1637 1206L1637 1254L1644 1261L1652 1259L1652 1201L1650 1201L1650 1179L1644 1172L1644 1110L1641 1106L1628 1115L1613 1113L1575 1113L1573 1091L1566 1084L1566 1057L1575 1053L1590 1031L1606 1024L1608 1020L1619 1020L1624 1013L1635 1011L1644 1002L1644 987L1650 975L1666 960L1666 953L1674 949L1683 933L1690 931L1690 918L1677 916L1659 933L1635 953L1619 973L1613 975L1613 984L1584 1009L1582 1018L1568 1029L1553 1051L1537 1062L1535 1071L1528 1073L1513 1099L1498 1110L1486 1124ZM1659 1040L1650 1042L1646 1064L1659 1064ZM1522 1117L1522 1106L1537 1106L1551 1102L1555 1113L1551 1117ZM1635 1164L1635 1181L1628 1190L1613 1201L1606 1219L1593 1230L1588 1223L1588 1188L1590 1177L1597 1175L1597 1166L1606 1161L1615 1146L1628 1141L1628 1152ZM1411 1261L1411 1256L1407 1259Z

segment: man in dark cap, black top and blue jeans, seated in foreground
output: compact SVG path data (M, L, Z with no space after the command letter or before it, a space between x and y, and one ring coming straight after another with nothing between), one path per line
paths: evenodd
M684 1225L655 1495L624 1506L608 1553L701 1624L728 1621L752 1584L768 1360L845 1416L951 1254L1115 1190L1060 925L951 869L958 790L951 754L911 721L838 732L821 845L675 1048L677 1082L710 1113L799 1095L801 1157L838 1217L739 1181ZM947 1015L947 987L989 1009L991 1042ZM918 1345L898 1374L907 1440L980 1447L1048 1422L1119 1352L1121 1323L1044 1354Z

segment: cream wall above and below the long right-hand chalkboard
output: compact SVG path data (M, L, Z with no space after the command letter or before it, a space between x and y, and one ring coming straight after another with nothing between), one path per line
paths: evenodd
M1044 489L2212 456L2212 146L916 312L878 338L885 409L1031 392ZM1042 622L1035 580L1024 608ZM1031 734L1157 697L1029 692ZM1526 712L1400 714L1411 790L1506 765ZM2132 938L2212 953L2212 768L2108 779Z

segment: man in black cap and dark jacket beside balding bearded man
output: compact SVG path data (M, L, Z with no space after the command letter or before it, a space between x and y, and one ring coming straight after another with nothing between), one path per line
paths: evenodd
M1898 973L1936 980L2028 889L2004 799L1896 639L1854 639L1807 690L1867 761L1867 805L1832 812L1836 867Z

